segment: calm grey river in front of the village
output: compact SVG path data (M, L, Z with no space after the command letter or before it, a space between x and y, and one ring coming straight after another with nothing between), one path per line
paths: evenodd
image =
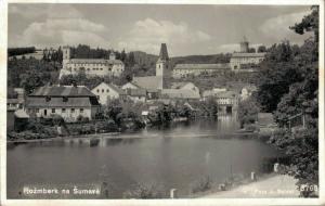
M174 188L186 196L203 177L222 182L233 173L248 176L265 158L280 155L262 141L231 136L236 129L235 118L224 116L101 138L96 146L68 141L8 146L8 198L38 198L20 193L26 185L100 182L107 182L108 198L121 198L136 183Z

